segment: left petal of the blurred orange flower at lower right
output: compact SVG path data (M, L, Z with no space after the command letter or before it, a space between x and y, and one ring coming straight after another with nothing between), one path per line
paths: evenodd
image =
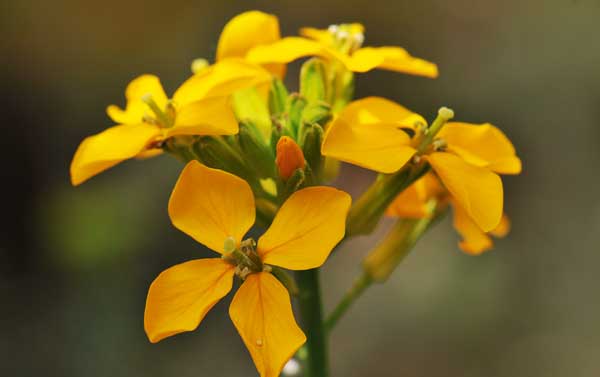
M388 207L386 215L422 219L430 215L427 203L439 198L444 189L434 174L426 174L398 195Z

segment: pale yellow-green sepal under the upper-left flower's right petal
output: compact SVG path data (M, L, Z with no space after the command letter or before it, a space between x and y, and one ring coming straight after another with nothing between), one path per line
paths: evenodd
M271 114L268 106L256 88L246 88L235 92L233 111L240 122L251 122L258 127L264 140L271 139Z

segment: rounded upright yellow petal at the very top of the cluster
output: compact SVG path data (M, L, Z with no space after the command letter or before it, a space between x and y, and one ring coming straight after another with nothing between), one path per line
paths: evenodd
M270 44L280 38L276 16L256 10L238 14L221 32L217 61L231 57L243 58L252 47Z

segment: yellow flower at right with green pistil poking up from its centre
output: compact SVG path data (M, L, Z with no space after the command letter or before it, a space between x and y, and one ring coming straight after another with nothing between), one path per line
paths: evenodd
M451 118L447 112L440 117ZM380 173L398 171L419 151L416 160L429 163L469 217L486 232L496 228L503 206L498 174L521 171L510 140L491 124L446 123L428 149L420 151L425 125L418 114L370 97L351 103L331 122L321 150ZM411 139L403 129L415 136Z

